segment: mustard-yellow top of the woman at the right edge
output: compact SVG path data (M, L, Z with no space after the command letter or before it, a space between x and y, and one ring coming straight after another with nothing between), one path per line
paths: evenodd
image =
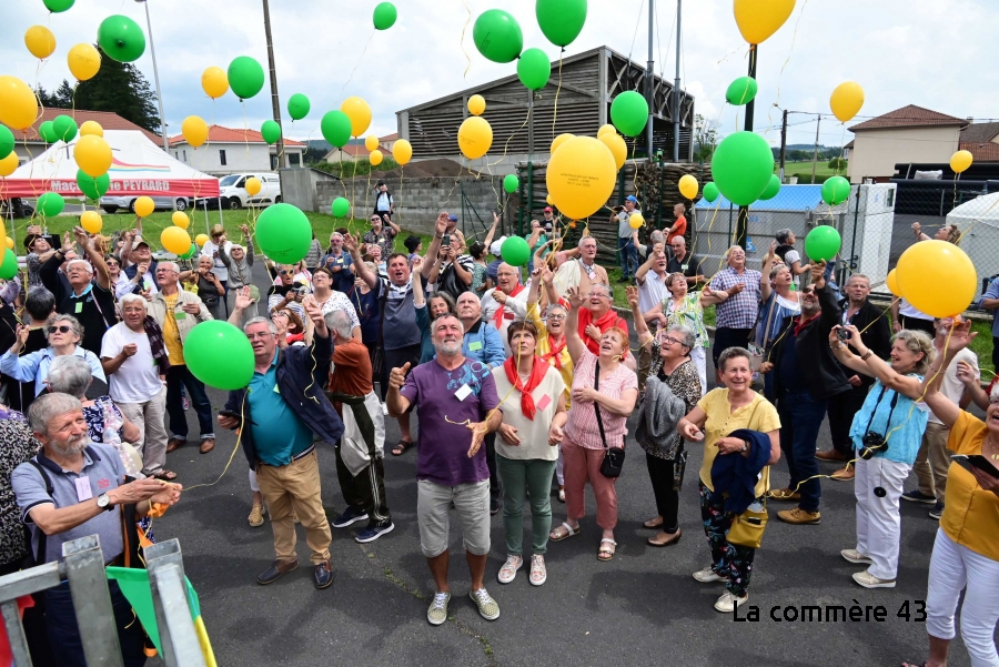
M947 448L955 454L981 454L988 431L981 420L961 411ZM975 475L956 463L947 471L940 527L959 545L999 560L999 496L982 489Z

